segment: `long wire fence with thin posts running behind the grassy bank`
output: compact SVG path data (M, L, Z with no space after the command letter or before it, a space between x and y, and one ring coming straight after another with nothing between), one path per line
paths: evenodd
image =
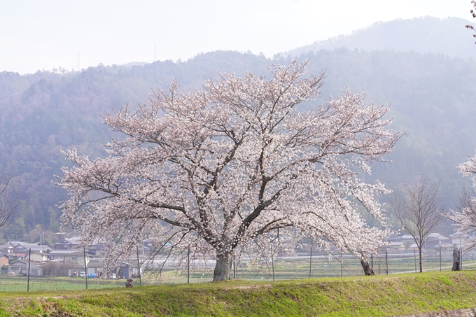
M418 253L381 253L367 255L370 265L377 275L419 272ZM463 255L463 270L476 268L476 252ZM451 271L453 252L424 253L423 272ZM207 267L208 266L208 267ZM158 283L204 283L213 280L214 261L203 262L190 257L183 265L169 266L156 272L144 272L142 285ZM323 255L300 253L295 256L273 257L265 260L241 258L233 262L232 279L254 281L279 281L288 279L309 279L322 277L344 277L363 275L360 258L353 255ZM87 289L123 288L126 280L87 279ZM134 279L139 286L139 279ZM84 290L85 278L41 276L0 276L0 292Z

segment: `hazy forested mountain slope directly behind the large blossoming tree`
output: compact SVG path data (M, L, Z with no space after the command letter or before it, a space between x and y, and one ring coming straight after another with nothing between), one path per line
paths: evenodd
M470 36L466 41L472 44ZM309 73L326 71L323 98L337 96L348 86L353 93L365 92L367 102L392 104L393 129L407 134L388 156L392 162L374 164L372 177L365 177L398 188L429 174L442 180L444 200L454 206L463 184L454 165L476 149L475 62L415 51L346 48L296 58L310 59ZM38 224L58 230L55 205L66 197L51 181L65 164L60 150L78 148L78 153L92 157L104 155L101 144L111 132L100 115L111 112L111 107L144 103L152 90L166 89L175 78L189 90L216 76L216 71L249 70L266 76L267 65L286 64L289 59L217 51L187 62L99 65L81 72L25 76L0 73L0 162L4 168L16 162L15 187L21 199L3 237L21 239ZM33 234L29 239L36 238Z

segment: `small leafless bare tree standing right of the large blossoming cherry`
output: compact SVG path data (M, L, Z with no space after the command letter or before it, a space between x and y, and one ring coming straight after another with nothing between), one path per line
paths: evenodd
M403 191L405 195L394 193L390 203L403 229L415 240L419 249L420 272L423 272L423 242L444 220L440 182L431 184L427 176L422 176L418 183L413 183Z

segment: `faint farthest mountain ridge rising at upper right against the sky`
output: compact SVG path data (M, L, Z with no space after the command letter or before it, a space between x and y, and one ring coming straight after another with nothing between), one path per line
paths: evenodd
M309 51L334 50L394 50L420 53L440 53L464 59L476 57L476 44L472 31L465 28L471 24L459 17L419 17L408 20L376 22L370 27L358 29L351 34L339 35L325 41L295 48L283 55L296 56Z

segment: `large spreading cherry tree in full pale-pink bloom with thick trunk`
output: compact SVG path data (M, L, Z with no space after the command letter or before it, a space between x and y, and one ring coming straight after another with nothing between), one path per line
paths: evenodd
M304 234L323 248L375 252L388 233L377 195L384 185L360 181L399 134L382 116L388 106L364 104L344 90L309 111L296 106L321 93L324 73L307 62L272 66L270 80L221 73L203 90L173 83L148 104L104 118L125 134L108 157L66 152L75 164L59 176L70 199L63 220L102 241L114 259L153 240L151 257L197 253L216 258L214 281L230 278L235 253ZM369 227L361 213L381 227Z

